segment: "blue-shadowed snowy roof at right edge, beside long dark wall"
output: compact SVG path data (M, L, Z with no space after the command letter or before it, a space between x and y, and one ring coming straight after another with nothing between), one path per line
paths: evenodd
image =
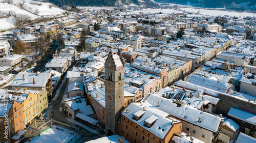
M231 107L227 115L256 126L256 115L250 112Z

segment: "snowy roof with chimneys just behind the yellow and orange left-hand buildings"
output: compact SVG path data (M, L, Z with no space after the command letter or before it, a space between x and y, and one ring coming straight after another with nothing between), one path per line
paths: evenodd
M23 75L25 80L23 80ZM19 72L14 80L11 82L11 87L46 87L48 79L51 78L51 73L28 73ZM35 84L33 84L33 79Z

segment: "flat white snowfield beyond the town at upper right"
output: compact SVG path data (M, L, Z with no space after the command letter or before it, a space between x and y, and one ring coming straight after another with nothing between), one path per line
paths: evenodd
M209 15L209 16L224 16L224 15L228 15L230 17L256 16L255 13L249 13L249 12L236 12L236 11L227 11L227 10L207 10L207 9L195 9L195 8L180 8L180 9L185 10L186 12L194 12L194 13L197 13L200 10L200 14Z

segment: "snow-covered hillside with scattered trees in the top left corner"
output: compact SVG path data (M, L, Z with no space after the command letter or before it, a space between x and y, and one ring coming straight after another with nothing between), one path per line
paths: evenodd
M0 0L0 30L14 27L15 17L35 20L41 16L60 15L65 10L54 7L50 3L31 0Z

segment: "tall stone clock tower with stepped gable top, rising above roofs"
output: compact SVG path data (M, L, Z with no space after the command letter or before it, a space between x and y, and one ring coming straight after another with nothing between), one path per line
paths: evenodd
M105 62L105 134L118 134L124 104L124 62L120 51L110 51Z

